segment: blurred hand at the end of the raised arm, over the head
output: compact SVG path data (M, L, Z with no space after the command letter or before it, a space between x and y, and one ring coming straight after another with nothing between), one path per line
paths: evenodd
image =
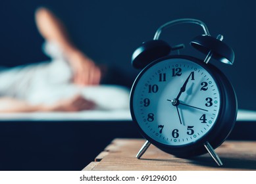
M93 60L80 51L68 55L68 61L73 69L73 82L77 85L98 85L101 80L101 70Z

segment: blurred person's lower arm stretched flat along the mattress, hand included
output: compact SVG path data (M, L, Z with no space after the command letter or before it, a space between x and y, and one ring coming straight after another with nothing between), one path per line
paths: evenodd
M90 110L95 107L91 101L84 99L84 97L77 95L71 99L58 101L54 104L37 104L33 105L26 101L20 101L10 97L0 98L0 113L9 112L52 112L64 111L75 112L80 110Z

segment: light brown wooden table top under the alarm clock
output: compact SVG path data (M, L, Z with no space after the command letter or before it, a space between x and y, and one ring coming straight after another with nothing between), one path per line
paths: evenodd
M84 170L256 170L256 141L225 141L216 149L224 166L209 154L176 158L151 145L141 159L135 156L144 139L114 139Z

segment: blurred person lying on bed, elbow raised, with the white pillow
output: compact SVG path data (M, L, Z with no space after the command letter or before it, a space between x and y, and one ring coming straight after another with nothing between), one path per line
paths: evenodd
M101 68L76 48L53 12L39 8L36 24L52 60L1 68L0 112L128 108L128 90L99 85Z

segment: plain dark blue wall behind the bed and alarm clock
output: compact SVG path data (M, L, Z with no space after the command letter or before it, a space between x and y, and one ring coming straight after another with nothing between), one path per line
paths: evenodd
M0 2L0 64L15 66L46 60L41 53L43 38L34 23L34 11L45 5L65 22L72 39L91 58L107 63L123 74L119 81L131 86L138 74L130 66L132 52L142 41L153 38L161 24L176 18L197 18L207 24L212 35L236 53L234 66L217 66L232 81L239 107L256 109L255 85L255 1L7 1ZM179 30L178 30L179 29ZM189 41L201 30L180 26L166 31L163 38L171 45L185 43L184 54L201 57L190 49ZM174 35L175 34L175 35ZM215 62L215 61L213 61Z

